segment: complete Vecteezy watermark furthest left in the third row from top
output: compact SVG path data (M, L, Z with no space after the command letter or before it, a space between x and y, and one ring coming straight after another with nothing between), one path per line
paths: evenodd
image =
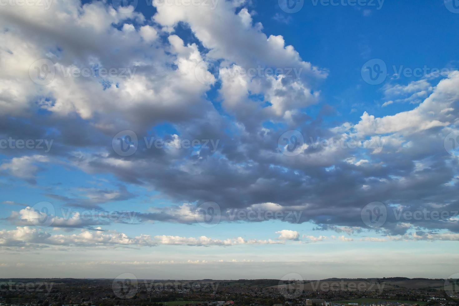
M144 136L145 148L150 150L156 149L209 149L212 153L217 150L220 139L180 139L179 136L173 135L173 139L160 139L155 137ZM120 156L131 156L139 147L137 134L131 130L124 130L116 134L112 139L112 148Z

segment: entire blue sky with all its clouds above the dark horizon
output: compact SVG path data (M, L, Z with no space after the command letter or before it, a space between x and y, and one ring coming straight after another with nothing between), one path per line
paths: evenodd
M456 0L165 1L0 12L2 275L451 275Z

